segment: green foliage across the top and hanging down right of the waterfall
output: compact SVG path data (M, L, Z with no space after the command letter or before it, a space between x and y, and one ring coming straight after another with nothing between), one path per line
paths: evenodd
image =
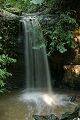
M53 22L47 29L46 25L42 26L44 35L49 39L48 53L55 50L64 53L69 48L74 48L74 30L79 27L78 0L6 0L1 4L2 8L12 13L39 11L41 14L57 14L55 25Z

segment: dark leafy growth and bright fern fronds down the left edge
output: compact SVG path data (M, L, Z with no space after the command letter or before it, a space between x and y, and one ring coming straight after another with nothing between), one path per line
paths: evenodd
M0 92L5 91L8 78L12 76L9 68L17 59L18 21L0 17Z

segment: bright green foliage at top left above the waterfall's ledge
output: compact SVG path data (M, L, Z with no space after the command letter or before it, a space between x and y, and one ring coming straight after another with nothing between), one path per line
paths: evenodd
M28 12L38 5L42 5L44 0L1 0L0 8L3 8L9 12Z

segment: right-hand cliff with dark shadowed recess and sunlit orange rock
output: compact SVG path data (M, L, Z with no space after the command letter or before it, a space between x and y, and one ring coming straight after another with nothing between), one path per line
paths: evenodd
M75 47L64 54L54 53L49 58L52 84L80 89L80 30L75 31Z

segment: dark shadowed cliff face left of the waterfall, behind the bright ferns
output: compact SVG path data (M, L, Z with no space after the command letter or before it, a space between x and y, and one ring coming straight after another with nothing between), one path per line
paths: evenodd
M20 53L22 48L18 43L19 19L15 14L0 10L0 54L8 54L17 59L17 63L8 68L13 74L8 80L8 87L22 86L24 79L23 53Z

